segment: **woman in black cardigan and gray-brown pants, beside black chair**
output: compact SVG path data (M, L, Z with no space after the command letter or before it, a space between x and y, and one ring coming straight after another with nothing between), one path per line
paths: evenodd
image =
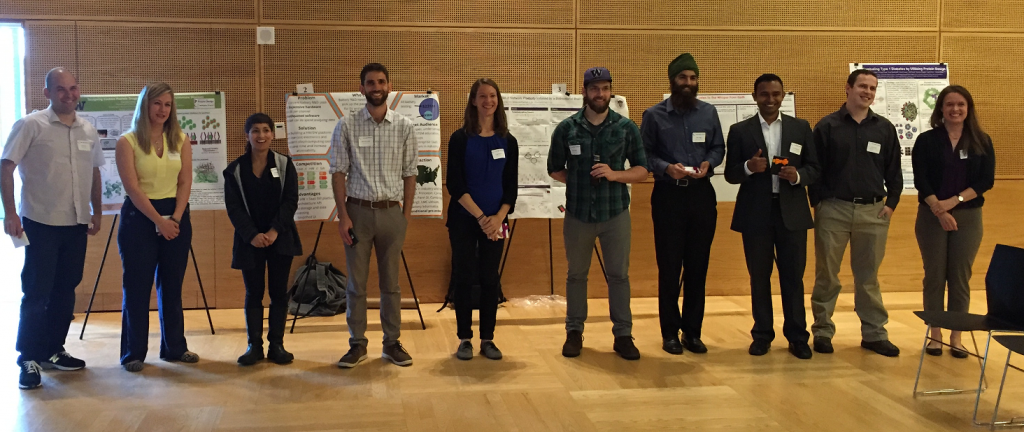
M913 144L913 184L918 188L914 230L925 264L925 310L943 310L947 292L950 311L967 312L971 302L971 267L981 246L982 196L995 181L992 140L975 117L966 88L948 86L939 93L932 130ZM942 330L932 328L925 349L942 355ZM950 354L967 358L961 332L949 332Z

